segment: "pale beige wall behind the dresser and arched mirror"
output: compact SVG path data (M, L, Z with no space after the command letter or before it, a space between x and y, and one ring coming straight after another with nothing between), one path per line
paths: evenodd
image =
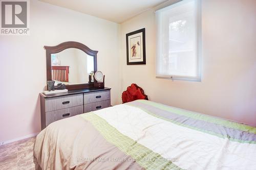
M105 74L105 86L112 88L111 103L120 103L120 81L113 76L113 68L119 68L115 55L119 33L117 23L30 1L30 35L0 36L0 144L40 131L38 94L46 86L44 45L78 41L99 51L98 70Z

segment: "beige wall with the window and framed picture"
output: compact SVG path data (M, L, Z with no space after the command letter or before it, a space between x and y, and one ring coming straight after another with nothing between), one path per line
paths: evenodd
M121 91L137 83L152 101L256 126L255 9L255 0L202 0L202 82L155 78L155 9L123 22ZM141 28L146 65L126 65L125 34Z

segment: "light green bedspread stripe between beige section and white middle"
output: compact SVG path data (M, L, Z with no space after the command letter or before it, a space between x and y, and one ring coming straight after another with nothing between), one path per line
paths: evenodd
M120 133L106 120L93 112L81 114L82 118L88 120L100 134L110 143L114 144L126 155L130 155L140 166L148 170L155 169L181 169L172 161L164 159L158 153L144 147L142 144Z

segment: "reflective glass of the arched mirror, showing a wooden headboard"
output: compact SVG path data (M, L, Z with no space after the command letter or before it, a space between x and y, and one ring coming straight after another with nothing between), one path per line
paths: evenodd
M77 48L51 54L52 80L55 84L83 84L89 82L94 71L94 58Z

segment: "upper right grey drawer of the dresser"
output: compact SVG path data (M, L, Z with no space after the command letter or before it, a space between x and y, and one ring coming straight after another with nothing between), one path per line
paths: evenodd
M84 93L84 104L110 100L110 90Z

